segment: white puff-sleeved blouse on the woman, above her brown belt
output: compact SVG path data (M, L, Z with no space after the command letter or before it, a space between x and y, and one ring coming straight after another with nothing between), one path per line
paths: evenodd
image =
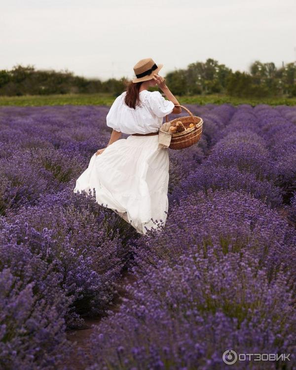
M107 126L124 134L157 132L163 117L175 107L175 104L166 100L159 91L140 91L141 106L136 106L136 109L124 103L125 95L126 91L114 100L106 117Z

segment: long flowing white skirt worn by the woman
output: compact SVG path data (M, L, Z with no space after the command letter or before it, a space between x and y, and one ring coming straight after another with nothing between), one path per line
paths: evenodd
M157 227L156 221L165 225L168 184L168 149L159 148L158 135L130 135L116 140L102 154L92 155L74 192L90 190L94 194L95 189L99 204L146 234L147 229Z

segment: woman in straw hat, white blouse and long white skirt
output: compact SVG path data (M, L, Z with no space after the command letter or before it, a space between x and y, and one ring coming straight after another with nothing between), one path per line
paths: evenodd
M165 115L181 113L181 108L175 107L179 102L158 75L162 67L151 58L134 66L136 77L115 99L106 117L107 126L113 128L110 141L92 155L74 188L74 192L92 193L95 189L99 204L141 234L166 222L169 155L167 148L158 146L158 129ZM169 100L159 91L148 91L156 84ZM130 136L121 139L121 133Z

